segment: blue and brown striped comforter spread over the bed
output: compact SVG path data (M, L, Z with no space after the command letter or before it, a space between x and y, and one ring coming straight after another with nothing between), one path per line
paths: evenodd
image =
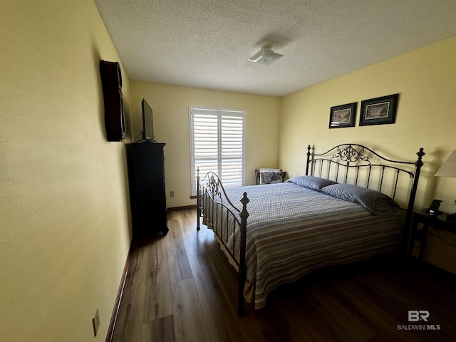
M250 199L247 280L254 290L254 298L246 299L254 301L255 309L266 304L272 289L313 269L393 252L400 244L399 213L371 214L360 204L291 182L227 189L238 209L242 209L239 199L244 192ZM235 230L235 254L239 255L239 229ZM232 246L232 231L224 236Z

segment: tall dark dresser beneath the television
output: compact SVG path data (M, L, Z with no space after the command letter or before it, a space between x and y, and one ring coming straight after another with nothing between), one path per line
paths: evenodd
M127 145L133 237L167 234L164 143Z

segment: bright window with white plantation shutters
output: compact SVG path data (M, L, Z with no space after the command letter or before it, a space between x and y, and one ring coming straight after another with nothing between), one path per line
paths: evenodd
M244 185L245 110L190 107L192 195L199 176L216 172L224 187Z

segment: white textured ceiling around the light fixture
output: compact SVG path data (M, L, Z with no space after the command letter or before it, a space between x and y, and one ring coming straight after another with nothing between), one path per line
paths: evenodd
M128 78L283 96L456 36L456 0L95 0ZM284 57L247 61L270 45Z

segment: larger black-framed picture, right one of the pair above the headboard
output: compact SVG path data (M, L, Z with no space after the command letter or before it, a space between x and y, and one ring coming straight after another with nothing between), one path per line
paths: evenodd
M360 126L395 123L399 94L361 101Z

